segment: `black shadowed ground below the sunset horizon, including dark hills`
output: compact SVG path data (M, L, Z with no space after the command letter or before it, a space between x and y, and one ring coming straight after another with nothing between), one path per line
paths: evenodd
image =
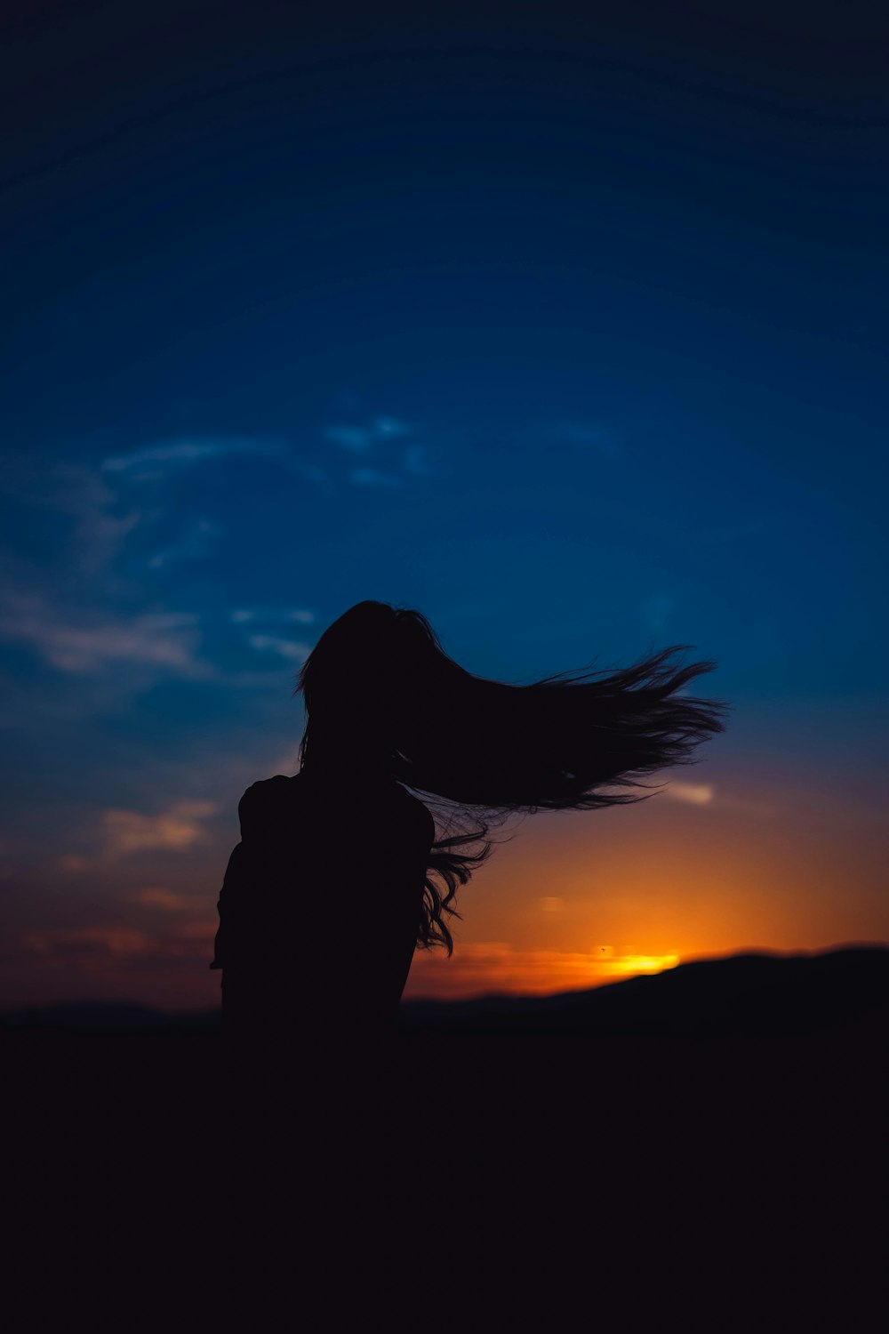
M7 1017L13 1217L25 1247L60 1230L112 1270L188 1259L216 1299L227 1266L324 1274L333 1323L355 1285L377 1323L409 1283L474 1283L513 1321L540 1283L552 1315L577 1283L630 1307L717 1283L740 1311L768 1281L784 1307L710 1327L786 1329L842 1273L842 1327L869 1327L850 1313L885 1269L888 1039L880 948L405 1007L372 1053L295 1045L276 1070L227 1057L213 1017Z

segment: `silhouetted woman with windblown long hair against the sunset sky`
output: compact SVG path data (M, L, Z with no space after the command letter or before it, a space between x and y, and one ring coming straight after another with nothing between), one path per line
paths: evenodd
M293 691L300 771L239 804L211 964L227 1037L292 1049L391 1027L415 948L452 952L445 918L492 826L645 800L602 788L693 763L724 730L726 704L680 694L714 667L672 663L686 647L517 686L464 671L419 611L361 602L340 616Z

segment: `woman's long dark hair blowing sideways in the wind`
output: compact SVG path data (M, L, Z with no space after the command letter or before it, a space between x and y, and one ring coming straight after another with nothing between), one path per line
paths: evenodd
M432 811L440 836L417 946L450 954L445 918L460 916L457 888L493 851L492 828L517 812L648 800L656 790L641 778L696 763L696 746L725 730L730 706L684 691L716 666L677 666L674 655L692 647L674 644L610 674L581 667L508 684L460 667L420 611L360 602L325 630L297 675L293 694L307 714L300 763L323 756L339 731L352 747L376 748ZM633 787L645 791L612 791Z

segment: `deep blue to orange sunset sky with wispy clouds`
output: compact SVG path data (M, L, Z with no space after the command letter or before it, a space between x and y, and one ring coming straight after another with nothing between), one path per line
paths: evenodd
M408 995L889 939L881 20L299 8L9 24L0 1006L217 1000L237 800L365 598L733 707L518 822Z

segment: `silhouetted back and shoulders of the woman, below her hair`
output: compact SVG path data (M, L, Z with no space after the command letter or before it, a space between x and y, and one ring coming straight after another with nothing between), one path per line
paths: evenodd
M388 778L343 796L307 771L255 783L220 895L228 1034L288 1043L395 1019L435 820Z

